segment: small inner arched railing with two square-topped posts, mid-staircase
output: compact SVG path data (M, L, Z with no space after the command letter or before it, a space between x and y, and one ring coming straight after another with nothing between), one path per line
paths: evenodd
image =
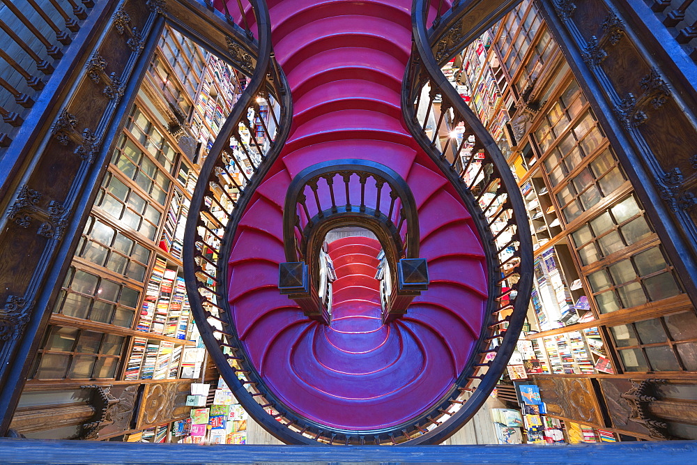
M321 162L293 178L284 204L281 294L295 300L308 317L330 322L326 301L319 298L324 291L320 283L326 281L319 273L319 257L326 234L344 226L371 229L388 257L387 266L395 270L386 274L392 277L392 291L383 302L383 321L405 314L429 284L426 260L419 258L416 201L396 171L369 160Z

